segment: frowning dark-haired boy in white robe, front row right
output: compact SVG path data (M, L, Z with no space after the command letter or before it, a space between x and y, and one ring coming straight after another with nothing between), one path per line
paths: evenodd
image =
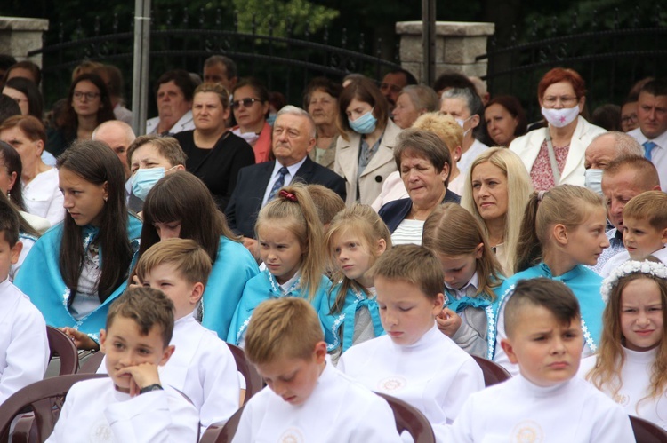
M519 281L505 306L505 331L502 349L520 375L470 395L451 441L635 441L623 408L576 376L581 314L565 284Z

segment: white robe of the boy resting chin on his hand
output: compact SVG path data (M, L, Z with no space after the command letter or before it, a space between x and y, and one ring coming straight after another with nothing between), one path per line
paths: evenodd
M110 378L72 386L48 443L183 443L197 441L197 410L181 393L165 386L130 397Z

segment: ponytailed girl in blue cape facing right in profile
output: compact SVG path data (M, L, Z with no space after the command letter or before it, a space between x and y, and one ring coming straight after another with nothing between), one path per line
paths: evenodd
M582 311L582 357L598 349L605 309L600 297L602 277L584 265L595 265L609 246L606 227L605 203L585 187L561 185L531 196L518 240L517 273L498 291L501 312L494 360L513 375L518 373L518 366L510 363L500 346L506 337L502 311L519 280L547 277L565 283L575 293Z

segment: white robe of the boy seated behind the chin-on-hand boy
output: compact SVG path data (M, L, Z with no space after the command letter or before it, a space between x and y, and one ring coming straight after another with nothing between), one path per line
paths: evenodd
M201 431L224 423L237 412L240 388L237 363L229 346L191 315L176 320L170 344L175 351L157 368L160 383L183 392L199 411ZM98 373L106 374L102 360Z

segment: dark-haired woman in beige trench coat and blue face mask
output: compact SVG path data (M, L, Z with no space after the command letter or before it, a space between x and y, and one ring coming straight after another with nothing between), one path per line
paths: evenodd
M389 104L368 78L355 80L341 93L333 170L345 178L347 204L371 204L382 184L397 170L393 148L401 129L389 116Z

